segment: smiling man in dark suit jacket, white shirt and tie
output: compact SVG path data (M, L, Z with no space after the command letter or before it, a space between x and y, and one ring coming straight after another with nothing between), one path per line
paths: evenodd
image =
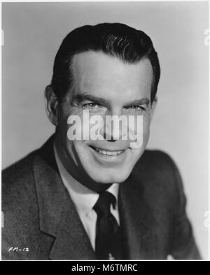
M143 31L97 24L64 38L45 89L55 135L2 174L4 259L200 259L179 171L145 150L159 78ZM139 146L101 122L94 139L94 115L141 117Z

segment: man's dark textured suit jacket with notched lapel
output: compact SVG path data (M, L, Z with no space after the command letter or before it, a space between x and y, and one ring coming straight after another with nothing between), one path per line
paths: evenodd
M96 258L52 143L53 136L2 172L3 260ZM118 196L127 259L200 259L179 171L168 155L146 150Z

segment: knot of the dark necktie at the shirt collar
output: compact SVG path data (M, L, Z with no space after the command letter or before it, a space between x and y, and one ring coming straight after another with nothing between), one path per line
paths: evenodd
M116 197L112 195L110 192L102 192L99 195L99 199L96 204L94 204L94 211L96 211L97 215L109 216L110 206L116 207Z

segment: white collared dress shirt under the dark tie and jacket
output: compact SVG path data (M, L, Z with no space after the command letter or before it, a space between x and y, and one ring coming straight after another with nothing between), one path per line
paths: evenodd
M54 144L55 160L57 162L57 167L59 169L59 174L62 178L65 188L68 190L69 195L76 206L80 220L85 227L85 231L90 239L92 248L95 248L95 234L96 234L96 222L97 213L92 209L94 204L99 198L99 194L90 190L85 185L76 181L64 168L59 156L57 155L57 150ZM113 183L106 191L111 192L116 197L116 208L113 209L111 205L111 213L116 218L118 225L120 225L119 212L118 212L118 190L119 184Z

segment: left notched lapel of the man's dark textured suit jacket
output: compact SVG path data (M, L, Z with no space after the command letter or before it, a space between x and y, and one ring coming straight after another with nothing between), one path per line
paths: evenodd
M90 240L59 176L52 144L53 136L34 159L40 230L55 239L49 258L94 259Z

